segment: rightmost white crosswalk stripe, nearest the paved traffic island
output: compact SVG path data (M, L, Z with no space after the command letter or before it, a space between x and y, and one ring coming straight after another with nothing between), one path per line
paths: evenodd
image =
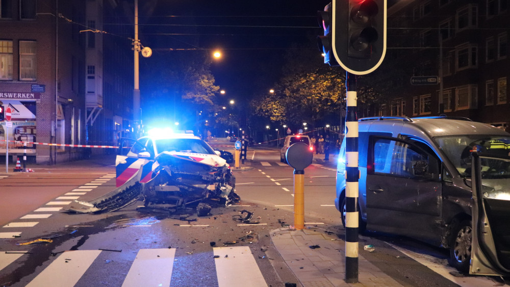
M248 246L214 247L218 285L267 286ZM228 257L225 257L228 255Z

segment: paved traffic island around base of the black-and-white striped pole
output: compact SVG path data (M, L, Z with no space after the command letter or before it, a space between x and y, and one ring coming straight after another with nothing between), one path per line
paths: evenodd
M402 286L359 255L359 282L345 282L345 241L320 228L270 232L271 240L299 282L320 286ZM312 249L310 246L320 248Z

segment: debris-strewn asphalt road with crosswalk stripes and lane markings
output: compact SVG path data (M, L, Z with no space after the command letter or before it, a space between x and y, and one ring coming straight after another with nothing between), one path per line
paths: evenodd
M221 143L217 148L232 147ZM57 211L74 198L91 200L113 190L113 156L53 167L34 166L34 173L9 173L0 179L0 286L31 282L54 286L63 272L72 273L69 277L75 279L64 282L66 286L137 285L140 281L136 280L156 277L164 278L160 283L170 286L239 282L260 286L261 276L262 285L299 285L268 236L270 230L293 225L293 168L279 162L275 148L250 149L248 158L245 166L249 169L235 171L241 202L214 207L207 217L197 217L194 209L170 217L156 211L139 212L140 201L112 213ZM305 169L305 223L343 238L344 228L333 205L335 181L334 160L324 163L318 156ZM244 225L240 219L246 212L253 213L252 221L258 224ZM20 245L40 239L52 242ZM375 251L363 251L367 244L374 245ZM68 250L80 252L65 252ZM453 283L447 279L452 275L445 250L407 238L365 234L360 236L360 253L406 286L496 284L483 277L480 281L479 276ZM140 262L143 264L137 264ZM163 274L153 274L158 270ZM225 278L241 281L228 282ZM149 281L143 282L149 285Z

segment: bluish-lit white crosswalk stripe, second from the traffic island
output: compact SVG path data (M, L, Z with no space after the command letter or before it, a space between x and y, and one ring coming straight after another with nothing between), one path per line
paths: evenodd
M170 286L175 248L140 249L122 287Z

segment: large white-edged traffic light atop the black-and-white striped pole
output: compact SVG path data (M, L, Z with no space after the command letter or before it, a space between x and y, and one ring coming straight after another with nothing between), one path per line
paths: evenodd
M346 71L375 70L386 54L387 0L333 0L333 51Z

